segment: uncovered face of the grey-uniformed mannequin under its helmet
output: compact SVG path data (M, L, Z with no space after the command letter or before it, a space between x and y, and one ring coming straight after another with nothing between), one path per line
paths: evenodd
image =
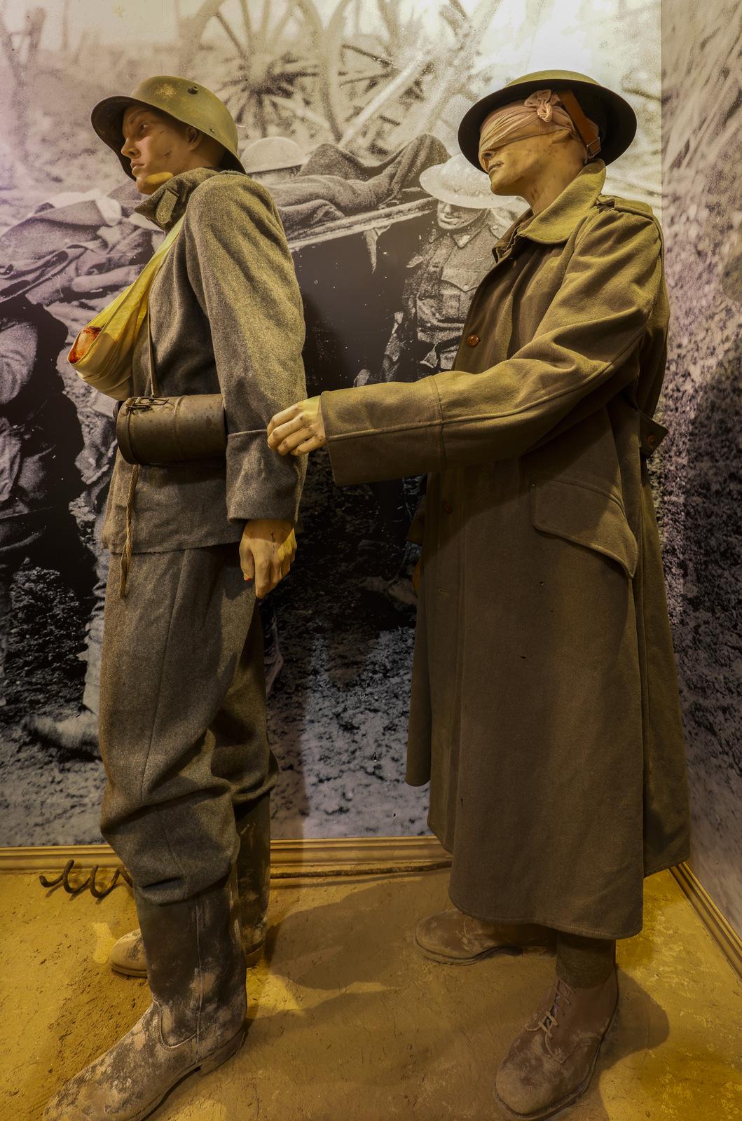
M130 105L121 126L121 155L131 160L137 191L151 195L174 175L194 167L219 167L224 149L198 129L148 105Z

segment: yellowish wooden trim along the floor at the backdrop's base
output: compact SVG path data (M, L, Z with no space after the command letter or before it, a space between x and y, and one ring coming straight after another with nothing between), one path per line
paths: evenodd
M439 867L451 860L434 836L272 841L270 852L272 870L280 879L291 874L368 874L372 870L392 873ZM0 873L61 871L69 860L74 860L80 869L121 867L106 844L28 845L0 847ZM724 956L742 976L742 938L686 863L670 871Z

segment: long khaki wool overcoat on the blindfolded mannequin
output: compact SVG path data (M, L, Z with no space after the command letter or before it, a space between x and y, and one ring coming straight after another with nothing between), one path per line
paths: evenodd
M661 233L604 179L588 164L495 245L452 371L322 408L337 483L429 473L407 777L452 900L627 937L688 807L646 462Z

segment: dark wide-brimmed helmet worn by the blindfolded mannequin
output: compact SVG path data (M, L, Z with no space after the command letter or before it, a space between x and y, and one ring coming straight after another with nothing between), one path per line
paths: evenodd
M508 82L501 90L488 93L464 113L458 126L458 146L470 164L480 167L480 128L482 121L501 105L525 101L536 90L572 90L585 117L595 121L601 137L600 157L612 164L621 156L637 132L637 115L629 104L613 90L574 71L536 71Z

